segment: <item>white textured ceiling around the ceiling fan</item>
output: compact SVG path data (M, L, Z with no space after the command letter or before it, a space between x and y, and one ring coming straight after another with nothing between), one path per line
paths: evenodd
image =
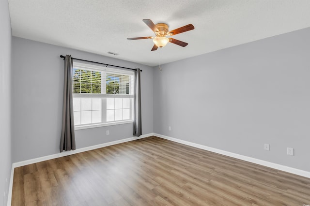
M150 66L310 27L310 0L9 0L9 8L13 36ZM186 47L151 51L152 39L126 39L154 35L142 19L195 29L173 36Z

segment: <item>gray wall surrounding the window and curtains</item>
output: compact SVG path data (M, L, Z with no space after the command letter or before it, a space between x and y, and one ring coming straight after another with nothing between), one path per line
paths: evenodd
M12 52L13 162L59 153L64 67L60 55L142 69L142 133L153 132L152 67L17 37L12 39ZM132 123L77 130L77 148L132 137L132 133Z

